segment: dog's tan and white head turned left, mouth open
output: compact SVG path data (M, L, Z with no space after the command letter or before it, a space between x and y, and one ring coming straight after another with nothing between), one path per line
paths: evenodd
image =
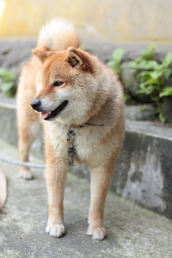
M105 103L108 95L103 64L89 53L67 51L32 53L43 64L37 75L38 93L31 103L44 120L83 124Z

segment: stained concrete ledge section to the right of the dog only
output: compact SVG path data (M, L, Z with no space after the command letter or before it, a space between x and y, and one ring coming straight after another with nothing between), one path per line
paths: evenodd
M142 126L145 122L126 122L124 146L116 164L112 189L172 218L172 130L150 125L144 130Z

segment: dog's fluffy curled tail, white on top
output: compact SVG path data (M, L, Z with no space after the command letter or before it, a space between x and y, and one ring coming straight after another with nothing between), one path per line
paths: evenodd
M40 29L39 50L67 50L70 46L79 48L79 36L72 24L64 19L53 18Z

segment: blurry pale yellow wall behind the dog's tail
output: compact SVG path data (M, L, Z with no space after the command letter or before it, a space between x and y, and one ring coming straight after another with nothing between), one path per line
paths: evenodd
M0 0L0 15L1 38L35 37L42 23L64 17L82 39L172 43L171 0Z

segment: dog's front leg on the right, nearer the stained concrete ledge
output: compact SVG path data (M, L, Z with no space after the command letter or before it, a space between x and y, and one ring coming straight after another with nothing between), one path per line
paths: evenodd
M103 228L103 209L107 191L112 181L114 160L109 164L91 169L91 205L87 234L93 239L103 240L106 231Z

